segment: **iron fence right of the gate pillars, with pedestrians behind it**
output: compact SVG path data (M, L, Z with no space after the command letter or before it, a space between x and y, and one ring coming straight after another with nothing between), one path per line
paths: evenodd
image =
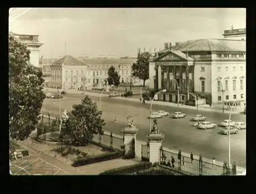
M178 154L164 150L163 148L160 149L160 164L173 167L178 171L191 175L236 175L235 164L229 169L226 163L223 165L213 164L212 162L203 161L202 156L199 160L191 160L191 158L182 156L182 154L179 160Z

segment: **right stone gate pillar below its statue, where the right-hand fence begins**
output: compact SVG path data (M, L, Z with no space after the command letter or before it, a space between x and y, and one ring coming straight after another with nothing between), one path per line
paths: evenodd
M149 162L154 164L160 162L160 148L164 139L164 134L149 134L147 135L149 142Z

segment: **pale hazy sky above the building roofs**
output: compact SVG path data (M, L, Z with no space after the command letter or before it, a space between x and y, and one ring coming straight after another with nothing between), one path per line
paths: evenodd
M40 56L44 57L137 56L138 48L159 50L165 42L175 45L177 41L223 38L223 30L231 29L232 25L234 29L246 27L245 8L9 10L9 30L39 35L40 43L44 44Z

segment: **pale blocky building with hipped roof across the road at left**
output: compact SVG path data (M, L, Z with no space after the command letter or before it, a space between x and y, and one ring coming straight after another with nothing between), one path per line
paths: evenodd
M58 87L62 90L84 90L90 85L88 66L70 55L54 61L50 67L50 87Z

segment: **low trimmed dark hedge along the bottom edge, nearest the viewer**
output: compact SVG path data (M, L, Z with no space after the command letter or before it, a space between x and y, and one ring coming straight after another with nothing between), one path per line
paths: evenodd
M137 172L145 169L150 169L152 164L150 162L140 162L138 164L133 164L129 166L122 166L116 169L106 170L100 175L120 175L120 174L129 174L132 172Z

